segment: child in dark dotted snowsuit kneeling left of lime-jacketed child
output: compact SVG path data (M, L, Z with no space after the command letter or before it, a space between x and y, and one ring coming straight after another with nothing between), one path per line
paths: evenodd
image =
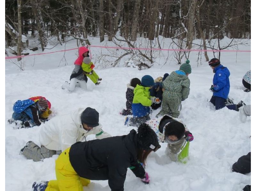
M140 84L140 79L138 78L132 78L129 84L127 84L127 90L126 90L126 109L123 109L121 111L122 115L132 115L132 100L134 97L133 90L137 86L137 84Z

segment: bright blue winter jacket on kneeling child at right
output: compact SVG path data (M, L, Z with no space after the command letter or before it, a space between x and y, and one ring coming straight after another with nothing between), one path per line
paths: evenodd
M229 75L230 72L227 67L223 65L219 65L218 67L214 68L215 74L213 77L213 96L222 97L224 99L228 98L229 93Z

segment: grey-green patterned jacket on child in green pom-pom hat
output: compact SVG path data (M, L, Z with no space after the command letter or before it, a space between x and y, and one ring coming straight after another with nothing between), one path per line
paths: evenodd
M164 94L170 97L180 98L183 101L188 98L190 80L182 70L173 71L163 82Z

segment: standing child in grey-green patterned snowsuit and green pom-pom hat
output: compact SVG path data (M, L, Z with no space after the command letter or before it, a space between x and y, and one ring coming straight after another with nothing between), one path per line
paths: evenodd
M163 82L163 103L162 110L156 117L165 114L178 118L180 115L179 107L181 101L188 98L190 91L190 80L188 74L191 73L189 60L180 65L180 70L173 71Z

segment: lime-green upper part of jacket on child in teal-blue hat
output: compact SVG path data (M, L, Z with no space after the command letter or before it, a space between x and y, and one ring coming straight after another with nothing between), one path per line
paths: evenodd
M141 103L143 106L151 106L152 101L149 99L149 87L143 87L137 84L133 90L134 97L132 103Z

